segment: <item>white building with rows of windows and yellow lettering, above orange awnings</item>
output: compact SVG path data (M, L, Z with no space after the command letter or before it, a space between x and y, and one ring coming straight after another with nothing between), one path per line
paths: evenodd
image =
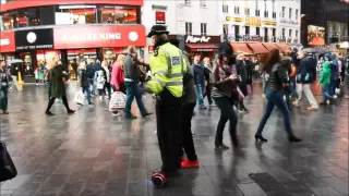
M300 0L218 2L220 33L228 41L298 42L299 17Z

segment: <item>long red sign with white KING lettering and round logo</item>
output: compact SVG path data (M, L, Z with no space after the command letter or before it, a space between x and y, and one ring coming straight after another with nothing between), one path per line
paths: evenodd
M53 28L55 49L144 47L144 26L76 26Z

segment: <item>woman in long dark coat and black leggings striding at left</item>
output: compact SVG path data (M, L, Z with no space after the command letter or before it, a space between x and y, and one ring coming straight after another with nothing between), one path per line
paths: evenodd
M68 105L67 96L65 96L65 86L63 83L64 74L63 68L58 65L59 57L56 56L52 62L52 68L50 70L50 100L48 101L48 106L46 109L47 115L55 115L50 112L52 105L55 103L56 98L61 97L63 105L65 106L67 112L69 114L74 113L74 110L71 110Z

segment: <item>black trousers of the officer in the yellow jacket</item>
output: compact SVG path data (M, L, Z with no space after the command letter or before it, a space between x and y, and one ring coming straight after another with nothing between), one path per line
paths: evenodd
M157 138L163 159L161 171L171 173L181 168L182 132L181 98L165 89L156 100Z

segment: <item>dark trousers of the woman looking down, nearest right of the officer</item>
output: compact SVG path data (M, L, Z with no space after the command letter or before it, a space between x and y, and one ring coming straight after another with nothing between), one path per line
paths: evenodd
M216 147L222 145L222 133L226 127L226 123L229 121L229 132L231 136L232 144L237 145L237 125L238 117L232 109L233 101L228 97L216 97L214 98L217 107L220 110L220 118L217 125L215 145Z

